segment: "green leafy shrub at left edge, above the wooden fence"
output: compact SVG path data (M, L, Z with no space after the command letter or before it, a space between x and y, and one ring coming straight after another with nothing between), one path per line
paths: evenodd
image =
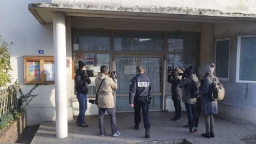
M11 82L11 75L9 74L9 71L12 71L10 60L11 57L8 52L8 47L12 44L14 43L5 43L5 41L2 40L2 37L0 36L0 88L6 87L7 84Z

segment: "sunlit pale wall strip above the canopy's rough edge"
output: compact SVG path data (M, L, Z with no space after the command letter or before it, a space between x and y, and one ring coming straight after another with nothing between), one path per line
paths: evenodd
M95 6L123 6L123 7L188 7L188 8L204 8L217 9L225 12L242 12L242 13L256 13L256 1L254 0L52 0L55 4L84 4Z

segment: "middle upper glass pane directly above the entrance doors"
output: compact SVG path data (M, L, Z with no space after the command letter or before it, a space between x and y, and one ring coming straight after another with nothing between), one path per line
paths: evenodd
M164 39L155 33L114 33L114 50L121 52L162 52Z

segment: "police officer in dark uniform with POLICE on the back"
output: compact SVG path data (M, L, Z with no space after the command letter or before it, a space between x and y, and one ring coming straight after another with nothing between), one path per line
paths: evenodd
M143 123L145 131L145 137L149 138L149 104L151 100L151 79L144 75L143 66L137 66L137 75L130 82L129 100L130 107L135 110L135 129L139 129L140 123L140 108L142 108Z

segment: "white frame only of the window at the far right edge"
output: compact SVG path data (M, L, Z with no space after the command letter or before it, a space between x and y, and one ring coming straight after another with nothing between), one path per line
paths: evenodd
M236 82L238 83L246 83L246 84L256 84L256 81L241 81L239 80L239 70L240 70L240 57L241 57L241 38L242 37L256 37L256 35L242 35L238 36L238 46L236 52Z

